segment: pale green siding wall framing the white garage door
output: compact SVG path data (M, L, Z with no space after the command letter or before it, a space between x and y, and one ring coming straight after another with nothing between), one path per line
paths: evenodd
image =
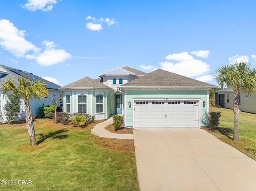
M200 126L208 126L208 111L209 111L209 98L208 90L126 90L124 97L124 109L126 114L124 116L124 123L127 127L133 126L134 118L134 99L136 98L194 98L200 99L199 103L199 115L200 115ZM128 102L131 102L129 107ZM203 101L206 104L203 104Z

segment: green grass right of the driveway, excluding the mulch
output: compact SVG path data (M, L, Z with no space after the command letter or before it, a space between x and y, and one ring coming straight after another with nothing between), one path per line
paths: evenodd
M221 112L220 127L229 129L228 136L233 138L234 113L232 109L210 106L211 111ZM256 114L239 112L239 138L256 142Z

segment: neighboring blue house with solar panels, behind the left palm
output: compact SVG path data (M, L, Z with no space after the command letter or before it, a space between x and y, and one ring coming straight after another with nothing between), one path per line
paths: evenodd
M15 69L12 67L0 65L0 111L3 116L4 122L6 121L5 118L5 111L4 111L4 105L6 104L7 96L3 93L2 84L4 84L8 79L13 79L14 81L18 79L18 77L28 77L29 79L32 79L36 81L37 79L40 79L43 82L46 82L46 88L49 91L48 97L44 98L43 100L30 100L30 108L31 112L34 116L39 116L38 107L42 105L52 105L52 98L62 98L62 92L60 92L58 89L61 87L59 85L56 85L55 83L52 83L50 81L47 81L45 79L42 79L36 75L33 75L32 73L22 71L20 69ZM25 108L24 108L24 101L20 100L20 114L18 116L18 120L22 120L25 118Z

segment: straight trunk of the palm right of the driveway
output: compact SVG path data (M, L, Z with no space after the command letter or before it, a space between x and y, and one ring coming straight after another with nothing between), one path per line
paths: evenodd
M234 100L233 100L233 107L232 107L232 109L234 111L234 137L233 137L233 140L237 141L237 142L239 142L238 126L239 126L240 106L241 106L240 91L235 91Z

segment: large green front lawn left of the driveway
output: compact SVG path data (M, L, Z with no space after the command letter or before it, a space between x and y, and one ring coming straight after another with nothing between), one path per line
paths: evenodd
M35 123L36 151L18 148L29 142L26 125L0 126L0 180L32 180L32 185L0 185L0 190L139 190L134 152L118 152L95 143L90 130L46 127Z

